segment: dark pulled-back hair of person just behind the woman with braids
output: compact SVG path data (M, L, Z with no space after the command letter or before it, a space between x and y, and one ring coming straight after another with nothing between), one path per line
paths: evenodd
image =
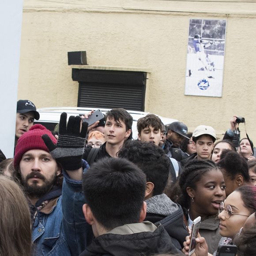
M233 151L225 151L224 154L224 157L218 162L217 165L220 168L225 169L226 176L234 180L238 174L241 174L244 180L249 182L250 177L245 158L241 157L237 152Z

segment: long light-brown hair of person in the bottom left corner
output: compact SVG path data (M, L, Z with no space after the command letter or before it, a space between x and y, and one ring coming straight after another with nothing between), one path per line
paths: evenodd
M28 202L14 181L0 175L0 256L31 254Z

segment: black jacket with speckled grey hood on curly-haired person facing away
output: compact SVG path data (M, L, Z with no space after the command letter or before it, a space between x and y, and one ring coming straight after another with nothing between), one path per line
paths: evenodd
M147 215L145 221L161 224L168 232L173 245L183 248L183 242L189 235L184 223L184 214L179 204L174 203L165 194L153 196L146 200Z

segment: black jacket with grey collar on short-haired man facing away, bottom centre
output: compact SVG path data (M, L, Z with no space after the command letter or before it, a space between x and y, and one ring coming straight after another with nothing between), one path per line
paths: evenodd
M140 229L141 232L135 233L134 230L127 230L129 225L150 225L153 230ZM177 253L183 255L175 248L170 240L170 237L162 225L154 226L151 222L142 222L136 224L128 224L124 227L123 232L116 233L113 229L99 237L83 251L80 256L145 256L154 255L157 253Z

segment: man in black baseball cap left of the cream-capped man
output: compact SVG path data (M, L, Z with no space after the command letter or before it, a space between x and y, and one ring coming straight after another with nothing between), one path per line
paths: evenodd
M173 122L169 125L166 134L166 143L164 145L164 151L169 157L177 161L188 157L188 155L180 149L181 140L188 138L187 132L188 127L181 122Z

